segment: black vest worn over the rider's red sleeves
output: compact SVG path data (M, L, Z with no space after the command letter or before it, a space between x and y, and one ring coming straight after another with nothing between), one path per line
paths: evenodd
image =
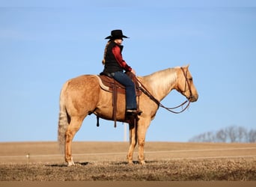
M118 61L115 59L115 56L112 52L114 46L118 46L122 52L124 46L119 46L114 41L109 43L109 46L106 49L105 56L105 67L103 72L115 73L117 71L123 71L123 68L118 64Z

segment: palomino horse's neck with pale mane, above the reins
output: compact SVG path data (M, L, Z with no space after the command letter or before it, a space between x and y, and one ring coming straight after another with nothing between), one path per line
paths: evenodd
M159 101L174 89L177 68L169 68L143 77L143 82L150 93Z

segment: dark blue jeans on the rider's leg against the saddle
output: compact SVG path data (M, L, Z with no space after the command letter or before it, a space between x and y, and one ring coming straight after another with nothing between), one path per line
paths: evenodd
M122 71L118 71L115 73L111 73L113 78L120 82L122 85L125 86L126 91L126 102L127 102L127 110L129 109L136 109L137 108L137 102L136 102L136 95L135 95L135 86L132 82L132 79L127 76Z

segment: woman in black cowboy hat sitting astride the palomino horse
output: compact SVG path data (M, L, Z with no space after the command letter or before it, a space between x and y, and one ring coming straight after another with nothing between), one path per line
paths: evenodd
M124 61L122 57L123 47L121 44L123 38L129 38L123 35L122 30L113 30L111 35L105 39L109 39L106 44L103 65L104 73L111 74L111 76L126 88L126 111L127 114L141 114L141 111L137 110L135 85L132 79L124 73L124 70L131 72L135 75L135 70Z

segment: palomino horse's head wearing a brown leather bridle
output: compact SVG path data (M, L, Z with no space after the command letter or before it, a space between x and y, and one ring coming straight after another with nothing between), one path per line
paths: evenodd
M198 100L198 91L195 88L191 73L189 72L189 65L180 67L177 73L177 86L176 90L186 96L190 102Z

